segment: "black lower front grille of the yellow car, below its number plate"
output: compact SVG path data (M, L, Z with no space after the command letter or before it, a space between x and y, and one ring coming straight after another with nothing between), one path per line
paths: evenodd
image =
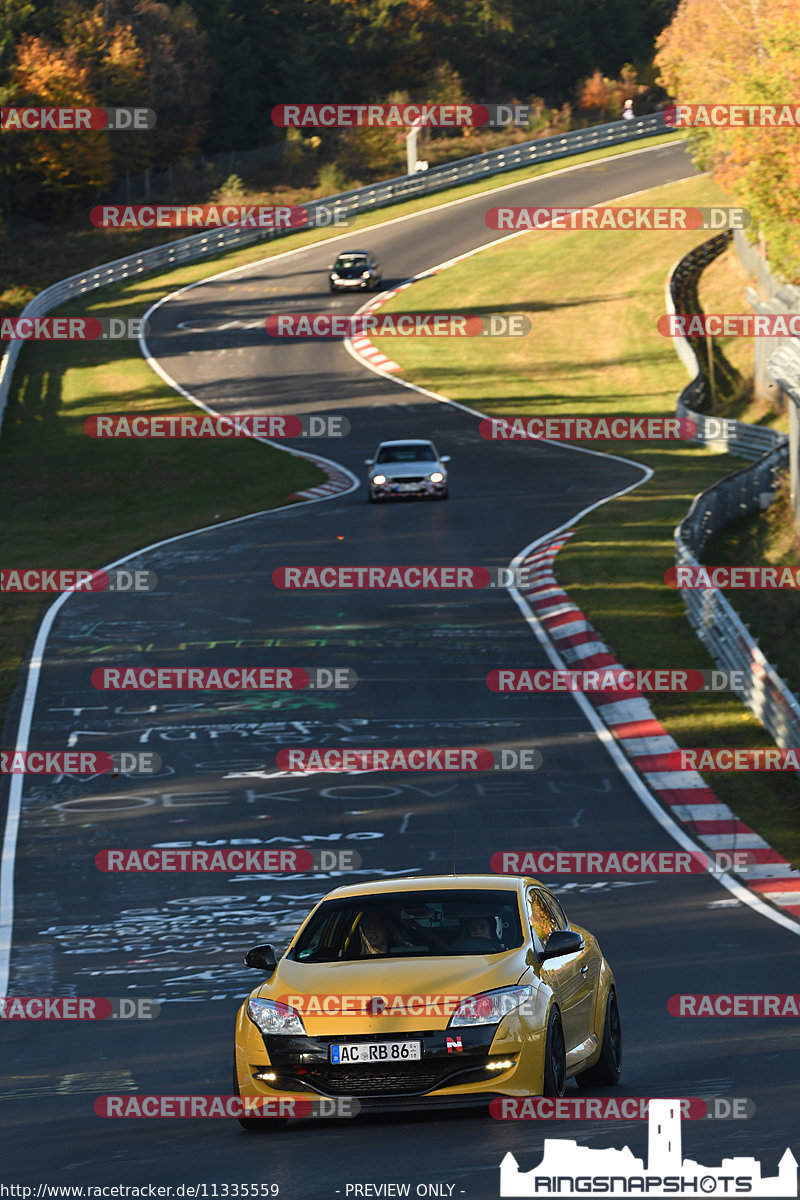
M299 1080L329 1096L422 1096L449 1082L457 1082L463 1072L480 1070L486 1054L459 1054L457 1061L422 1060L396 1066L355 1067L343 1070L330 1064L306 1068ZM281 1073L282 1081L287 1076Z

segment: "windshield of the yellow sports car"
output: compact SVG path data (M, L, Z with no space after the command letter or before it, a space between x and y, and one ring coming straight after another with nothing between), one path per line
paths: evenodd
M291 958L338 962L499 954L522 941L516 892L392 892L324 901Z

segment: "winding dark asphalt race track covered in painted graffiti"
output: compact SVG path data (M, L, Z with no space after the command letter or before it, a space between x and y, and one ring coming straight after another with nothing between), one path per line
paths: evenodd
M672 144L516 185L503 199L597 204L691 174ZM345 232L336 248L374 250L391 286L500 236L483 223L495 203L497 193L479 196L402 221L384 210L379 228ZM101 1094L227 1094L234 1015L258 983L241 965L245 950L284 947L317 898L354 878L104 875L94 862L100 850L231 839L351 848L362 858L355 877L391 878L488 871L491 854L505 848L675 848L569 695L486 689L493 667L549 665L504 589L272 586L277 566L295 564L503 566L642 478L613 457L486 442L476 418L365 370L339 342L269 340L270 313L361 304L327 294L331 256L325 244L282 254L167 300L150 318L150 353L217 412L345 415L349 437L309 448L360 479L381 438L431 437L452 456L451 499L367 505L360 486L144 550L130 565L156 571L156 593L73 595L59 608L30 745L152 750L163 770L150 781L26 781L8 994L156 997L162 1008L152 1021L0 1025L11 1076L4 1175L16 1183L270 1182L285 1200L335 1200L353 1183L410 1183L411 1194L444 1184L444 1195L483 1200L498 1195L504 1154L534 1166L546 1135L628 1145L646 1157L646 1123L632 1121L535 1126L425 1114L306 1121L259 1135L231 1120L94 1112ZM602 371L602 347L597 359ZM315 694L92 689L96 667L132 665L350 667L360 683ZM20 703L18 692L14 720ZM275 764L281 746L326 745L535 745L543 764L533 773L295 778ZM597 935L616 974L625 1052L615 1092L752 1099L750 1120L685 1122L684 1151L706 1164L754 1156L775 1174L796 1140L796 1022L681 1021L668 1015L667 1000L675 991L800 992L796 936L709 876L587 876L555 890L567 914ZM575 1085L567 1094L577 1094Z

